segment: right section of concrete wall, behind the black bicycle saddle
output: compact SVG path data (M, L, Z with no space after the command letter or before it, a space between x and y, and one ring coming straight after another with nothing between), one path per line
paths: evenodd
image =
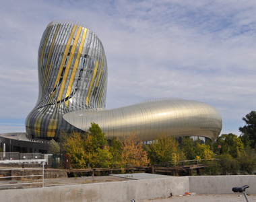
M232 187L249 185L246 193L256 193L256 175L189 176L190 193L228 194Z

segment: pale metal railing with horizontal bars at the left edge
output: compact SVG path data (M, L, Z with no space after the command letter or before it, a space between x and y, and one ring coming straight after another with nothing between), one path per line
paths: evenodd
M22 177L40 177L42 176L42 182L28 182L28 183L11 183L11 184L0 184L0 186L11 186L11 185L24 185L24 184L42 184L44 187L44 162L45 159L38 159L38 160L0 160L0 164L31 164L31 163L38 163L42 164L42 168L5 168L1 170L35 170L35 169L42 169L42 174L36 175L22 175L22 176L1 176L0 178L22 178Z

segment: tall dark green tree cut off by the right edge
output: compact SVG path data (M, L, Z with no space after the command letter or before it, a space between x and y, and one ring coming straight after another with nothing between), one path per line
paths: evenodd
M251 111L249 114L246 114L243 117L243 121L245 121L245 126L239 127L239 131L241 131L241 139L245 144L245 147L249 144L251 148L255 148L256 143L256 112Z

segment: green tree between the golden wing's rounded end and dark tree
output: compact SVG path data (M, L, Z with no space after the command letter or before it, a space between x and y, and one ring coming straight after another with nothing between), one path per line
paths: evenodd
M232 133L222 134L214 143L216 154L230 154L232 158L238 158L245 151L243 142Z

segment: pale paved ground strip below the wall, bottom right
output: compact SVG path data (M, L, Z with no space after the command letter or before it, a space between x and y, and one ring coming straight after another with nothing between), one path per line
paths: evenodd
M240 197L241 196L241 197ZM256 195L247 196L248 200L253 202L256 201ZM194 195L194 196L175 196L170 198L157 198L157 199L146 199L136 202L245 202L244 195Z

